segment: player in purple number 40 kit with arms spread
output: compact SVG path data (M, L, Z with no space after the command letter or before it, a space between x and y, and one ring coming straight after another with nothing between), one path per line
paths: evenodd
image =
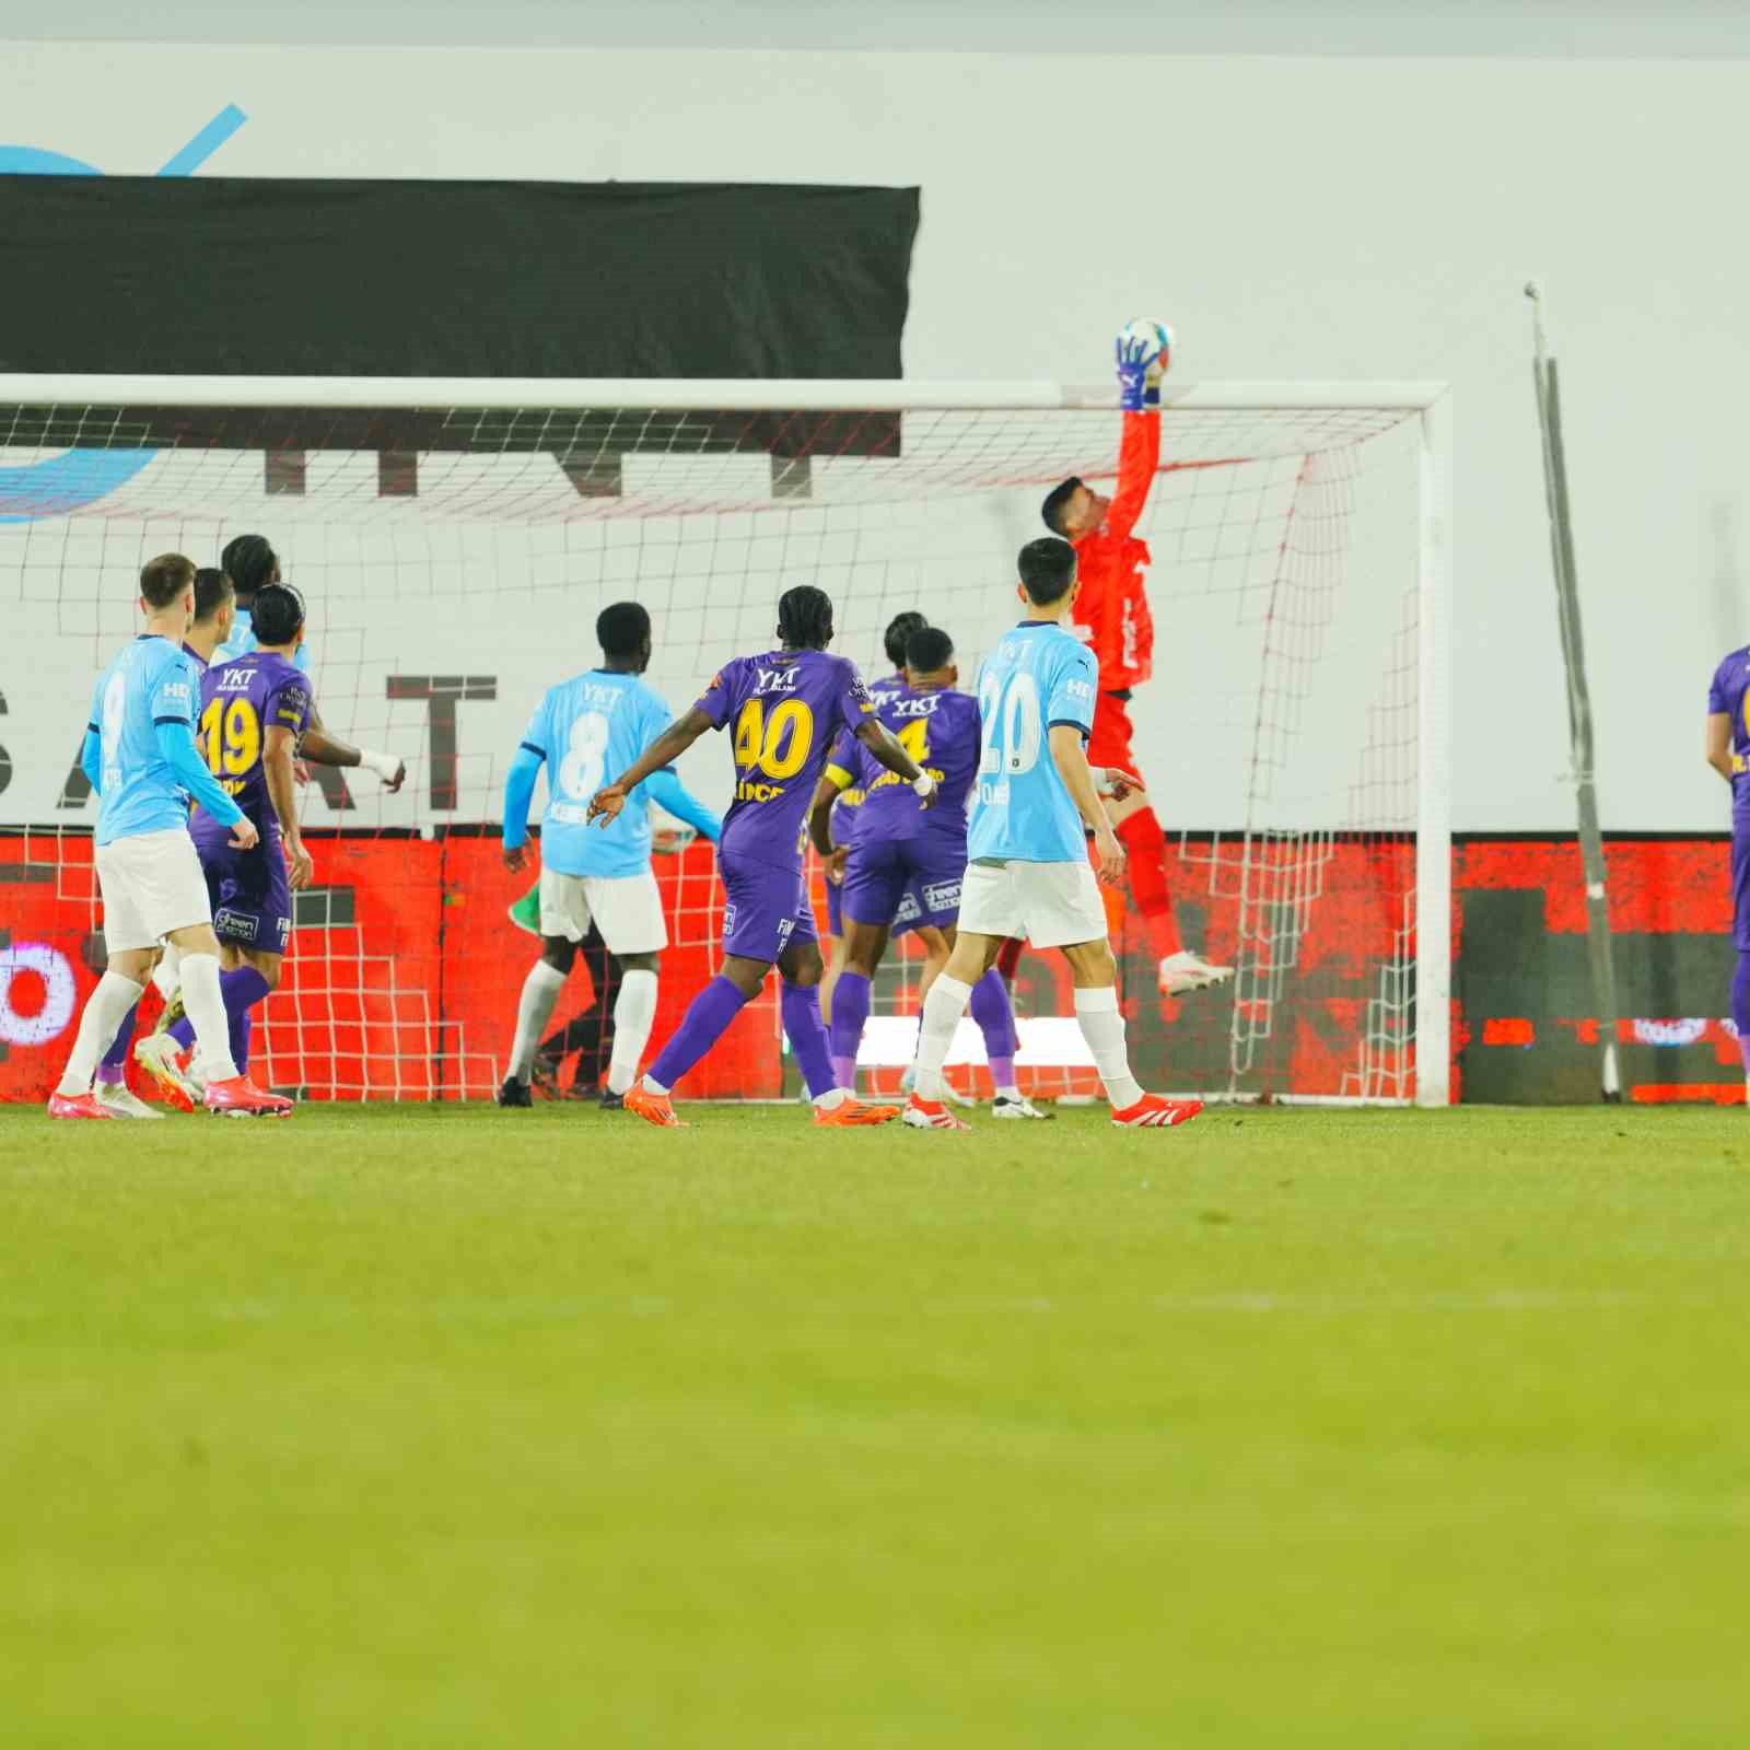
M728 892L723 912L723 970L693 999L649 1073L626 1092L626 1111L676 1127L668 1094L723 1036L777 964L782 1015L819 1125L886 1124L892 1106L864 1106L833 1076L821 1022L821 948L802 878L805 817L814 786L842 726L919 796L934 780L882 728L856 663L828 656L833 604L808 584L777 604L779 649L726 663L693 709L656 737L612 784L597 791L590 816L612 819L626 793L672 765L705 730L733 723L735 800L723 821L718 866Z

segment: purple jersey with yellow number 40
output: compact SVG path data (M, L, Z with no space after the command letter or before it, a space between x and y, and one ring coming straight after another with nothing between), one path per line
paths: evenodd
M875 710L858 665L826 651L737 656L698 709L733 735L735 800L719 861L749 858L800 875L808 807L833 742Z

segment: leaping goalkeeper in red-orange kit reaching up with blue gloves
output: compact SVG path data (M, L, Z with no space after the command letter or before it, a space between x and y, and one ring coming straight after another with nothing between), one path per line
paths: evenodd
M1166 368L1166 346L1152 355L1143 340L1129 332L1118 338L1118 401L1124 408L1118 492L1108 499L1087 481L1066 480L1041 508L1046 528L1076 550L1082 593L1074 626L1099 662L1088 765L1124 772L1143 772L1130 751L1130 693L1150 677L1155 656L1155 621L1143 586L1148 542L1136 536L1136 525L1160 467ZM1232 966L1214 966L1180 942L1167 894L1167 838L1148 796L1139 793L1110 803L1108 814L1124 842L1130 892L1160 961L1162 994L1183 996L1232 978Z

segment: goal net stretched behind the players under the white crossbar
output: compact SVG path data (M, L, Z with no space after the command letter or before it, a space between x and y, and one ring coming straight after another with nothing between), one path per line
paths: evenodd
M1162 998L1150 933L1110 896L1150 1087L1446 1099L1442 422L1418 385L1169 392L1138 527L1155 672L1130 716L1180 931L1236 975ZM1017 618L1043 494L1110 481L1118 439L1110 394L1048 385L0 378L0 1096L49 1087L102 968L77 749L149 556L217 564L266 536L308 600L324 723L408 761L399 794L310 770L317 882L254 1073L317 1099L478 1099L537 952L508 915L528 878L499 856L504 777L541 693L598 662L597 612L649 609L677 712L770 648L796 583L831 595L835 649L866 676L920 609L970 690ZM707 737L681 775L723 808L730 770ZM710 847L686 836L656 859L674 945L653 1048L718 954ZM877 1087L912 1055L922 966L901 936L877 982ZM592 996L579 970L556 1024ZM1092 1094L1059 956L1022 957L1015 1003L1029 1090ZM970 1026L950 1062L987 1087ZM682 1094L788 1083L768 992Z

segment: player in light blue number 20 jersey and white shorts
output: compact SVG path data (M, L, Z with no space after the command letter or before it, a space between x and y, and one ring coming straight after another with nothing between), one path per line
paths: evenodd
M917 1082L905 1122L924 1130L966 1125L942 1104L942 1064L973 985L996 964L1008 936L1062 948L1076 987L1076 1022L1106 1083L1111 1122L1155 1129L1202 1111L1199 1101L1144 1094L1130 1074L1118 1008L1118 962L1106 940L1101 878L1124 877L1124 847L1101 807L1101 780L1087 758L1099 665L1071 632L1076 550L1055 536L1020 550L1027 618L1006 632L978 668L982 752L966 830L961 926L948 970L924 998ZM1139 789L1127 774L1113 794Z

